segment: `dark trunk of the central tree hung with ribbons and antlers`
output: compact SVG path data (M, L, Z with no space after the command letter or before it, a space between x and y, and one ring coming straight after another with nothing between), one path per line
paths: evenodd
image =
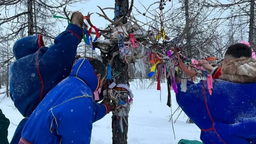
M115 0L115 13L117 12L117 6L119 6L119 10L121 10L123 12L123 14L128 12L129 9L129 3L127 3L127 0ZM119 15L118 17L123 16L122 14ZM127 23L127 19L124 19L123 24ZM117 46L117 45L116 45ZM117 48L118 49L118 48ZM120 59L119 59L119 55L115 56L114 60L113 60L113 68L115 68L116 70L118 70L119 72L121 72L121 74L116 77L116 81L115 83L118 84L125 84L129 86L129 82L128 82L128 64L127 63L123 63ZM126 98L121 98L122 101L127 102L128 101L128 97ZM128 125L125 124L124 120L123 120L123 128L124 128L124 132L121 134L121 131L118 127L118 118L117 116L115 116L113 114L112 116L112 143L113 144L127 144L127 134L128 134ZM128 116L125 117L126 122L128 123Z

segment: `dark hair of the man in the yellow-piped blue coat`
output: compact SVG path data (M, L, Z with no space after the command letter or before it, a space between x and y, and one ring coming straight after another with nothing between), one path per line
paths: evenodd
M107 75L107 70L104 64L98 59L88 59L92 65L94 72L100 74L100 79L102 80Z

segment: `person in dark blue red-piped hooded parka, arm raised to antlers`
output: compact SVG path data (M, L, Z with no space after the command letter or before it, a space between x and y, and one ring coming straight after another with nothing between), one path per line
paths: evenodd
M10 65L10 96L25 117L17 126L10 144L17 144L23 127L45 95L69 76L82 36L83 15L75 12L66 31L46 47L42 35L21 38L13 45L16 61Z

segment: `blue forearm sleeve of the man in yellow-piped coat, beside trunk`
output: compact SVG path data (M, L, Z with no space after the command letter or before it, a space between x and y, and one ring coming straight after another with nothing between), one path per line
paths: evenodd
M96 121L102 119L107 113L109 113L109 106L108 105L94 102L95 117L93 119L93 122L96 122Z

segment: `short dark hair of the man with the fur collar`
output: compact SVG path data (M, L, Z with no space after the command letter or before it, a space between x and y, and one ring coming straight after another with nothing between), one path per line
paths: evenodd
M234 58L251 57L251 48L245 44L237 43L228 47L225 56L229 55Z

